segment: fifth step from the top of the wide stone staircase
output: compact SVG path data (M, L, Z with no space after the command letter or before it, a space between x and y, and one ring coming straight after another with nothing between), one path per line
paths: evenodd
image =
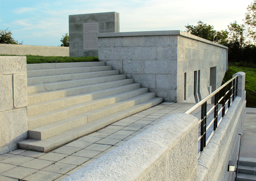
M58 98L66 98L66 97L70 97L70 95L68 95L68 96L66 95L68 92L76 92L77 89L85 89L85 88L90 88L91 89L91 87L97 87L97 86L100 86L100 85L109 85L109 84L113 84L113 83L117 83L117 84L121 83L121 85L118 85L118 86L129 85L129 84L133 83L133 79L121 79L121 80L117 80L117 81L97 83L97 84L93 84L93 85L83 85L83 86L79 86L79 87L70 87L70 88L66 88L66 89L52 90L52 91L48 91L48 92L39 92L39 93L28 94L28 100L29 100L28 104L31 105L31 104L35 104L35 103L38 103L38 102L44 102L44 101L57 99L57 98L49 98L49 97L52 97L53 95L55 95L57 93L58 93L58 95L60 93L63 94L63 96L59 96ZM111 86L109 88L114 88L114 87L116 87L116 86ZM103 89L97 89L96 91L100 91L100 90L103 90ZM94 92L94 91L83 92L83 93L78 93L78 94L85 94L85 93L90 93L90 92ZM75 96L75 95L78 95L78 94L72 94L71 96ZM43 100L43 101L42 100L40 100L40 101L30 100L30 99L39 100L38 96L40 96L40 97L44 96L47 99ZM30 103L30 102L33 102L33 103Z

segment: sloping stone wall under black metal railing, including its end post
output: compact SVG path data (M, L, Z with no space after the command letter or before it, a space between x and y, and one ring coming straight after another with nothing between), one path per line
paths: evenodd
M228 162L238 160L245 118L245 73L238 72L238 97L234 100L198 159L197 181L234 181L236 172L228 172Z

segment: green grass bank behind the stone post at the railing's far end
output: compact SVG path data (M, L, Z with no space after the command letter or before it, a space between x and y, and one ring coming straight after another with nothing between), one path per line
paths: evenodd
M245 72L246 107L256 107L256 68L228 66L224 82L232 79L237 72Z

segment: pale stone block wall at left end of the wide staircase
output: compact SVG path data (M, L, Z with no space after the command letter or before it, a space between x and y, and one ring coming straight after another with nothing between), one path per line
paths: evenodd
M0 57L0 155L27 138L26 57Z

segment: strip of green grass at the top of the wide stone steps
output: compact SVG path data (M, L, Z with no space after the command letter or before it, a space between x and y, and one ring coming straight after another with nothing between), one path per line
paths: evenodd
M0 55L0 56L17 56L17 55ZM67 63L67 62L90 62L98 61L98 57L43 57L26 55L27 63Z

